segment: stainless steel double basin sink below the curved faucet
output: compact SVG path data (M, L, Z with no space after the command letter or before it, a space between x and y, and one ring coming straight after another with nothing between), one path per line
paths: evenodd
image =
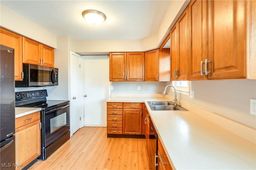
M174 106L173 102L148 102L151 110L172 110L172 111L188 111L181 106Z

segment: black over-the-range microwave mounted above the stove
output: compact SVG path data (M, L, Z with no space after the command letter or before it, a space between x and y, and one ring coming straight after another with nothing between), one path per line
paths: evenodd
M58 85L58 68L23 63L23 80L15 87L40 87Z

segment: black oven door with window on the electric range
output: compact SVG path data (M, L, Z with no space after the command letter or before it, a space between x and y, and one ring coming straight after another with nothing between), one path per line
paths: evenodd
M45 145L48 147L70 129L70 105L44 111Z

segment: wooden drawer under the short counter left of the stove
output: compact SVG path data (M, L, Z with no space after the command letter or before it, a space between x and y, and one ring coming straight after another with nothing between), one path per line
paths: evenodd
M22 117L18 117L15 119L15 129L22 127L24 125L28 125L29 123L32 123L37 120L40 120L40 111Z

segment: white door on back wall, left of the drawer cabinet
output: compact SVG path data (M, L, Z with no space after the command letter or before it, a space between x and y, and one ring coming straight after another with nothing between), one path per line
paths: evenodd
M87 96L84 97L84 126L106 127L109 57L86 57L83 60L83 70L84 95Z

